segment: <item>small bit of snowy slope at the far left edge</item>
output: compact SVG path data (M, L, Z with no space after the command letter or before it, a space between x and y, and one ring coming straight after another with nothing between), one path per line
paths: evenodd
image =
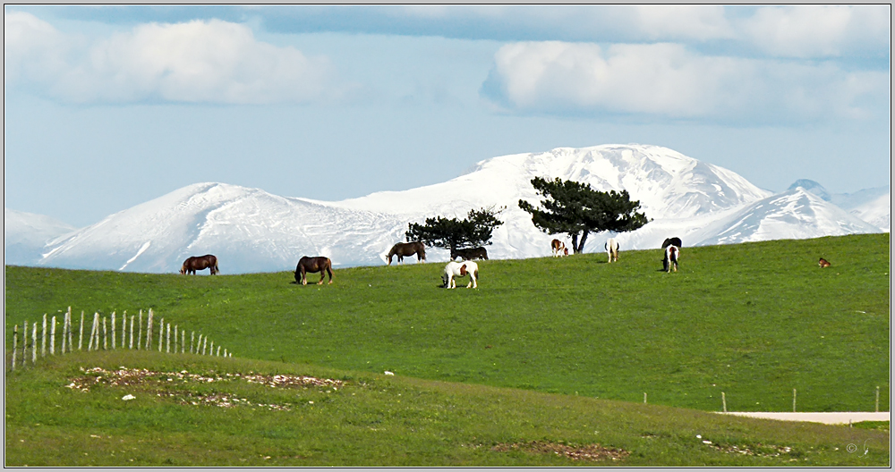
M76 229L49 216L4 208L4 264L35 264L47 242Z

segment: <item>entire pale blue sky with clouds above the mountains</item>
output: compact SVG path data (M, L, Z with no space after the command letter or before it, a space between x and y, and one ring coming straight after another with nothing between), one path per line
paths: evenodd
M891 185L891 5L4 7L4 207L192 183L336 201L652 144L755 185Z

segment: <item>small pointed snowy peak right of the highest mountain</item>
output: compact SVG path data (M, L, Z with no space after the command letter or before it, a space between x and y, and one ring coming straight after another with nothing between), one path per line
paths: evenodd
M764 198L712 223L696 238L699 246L759 240L801 240L880 232L879 228L797 187Z

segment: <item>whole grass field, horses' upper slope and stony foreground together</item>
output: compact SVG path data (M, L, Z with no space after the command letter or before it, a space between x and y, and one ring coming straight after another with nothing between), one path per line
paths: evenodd
M848 438L878 441L874 464L888 464L888 429L788 425L709 412L721 409L720 392L725 392L731 411L790 411L793 389L800 411L872 411L877 386L880 409L889 410L889 254L889 234L873 234L685 248L677 274L659 270L659 250L623 251L618 264L606 264L604 254L482 261L479 289L455 291L438 287L443 263L340 269L336 282L323 286L291 283L290 272L187 277L8 266L7 346L12 325L69 306L79 317L81 310L105 316L115 311L120 316L124 310L131 315L153 308L157 317L164 316L187 333L210 335L232 350L234 358L81 353L47 359L47 369L17 372L6 384L7 465L38 465L32 460L38 456L21 449L25 443L17 441L39 437L61 444L95 444L99 442L65 435L66 428L86 433L94 426L105 431L95 434L98 439L124 434L128 441L152 443L149 450L156 452L129 458L136 457L142 465L198 465L178 462L175 451L168 454L174 462L164 462L161 451L195 449L191 453L198 458L205 447L201 444L216 444L212 457L217 459L201 462L205 465L570 463L561 454L500 446L526 441L544 441L554 449L558 443L601 443L629 455L600 463L621 460L627 465L771 464L762 460L782 465L784 459L862 465L873 459L842 452ZM820 269L818 257L832 266ZM226 274L226 261L220 265ZM316 274L311 280L317 280ZM139 395L125 408L119 387L98 385L96 393L85 394L62 386L77 375L78 367L119 365L243 375L248 370L324 372L351 382L337 394L312 393L335 401L340 413L334 417L296 416L295 409L263 414L247 413L251 409L244 407L200 410L174 400L142 403ZM397 375L383 377L386 370ZM379 388L384 385L388 387ZM355 395L350 395L351 389ZM47 395L20 398L43 390ZM394 403L395 392L402 394L405 405ZM643 405L644 392L648 405ZM276 396L272 391L256 393L260 398ZM294 403L294 392L282 395L277 401ZM365 401L356 402L358 396ZM446 398L463 403L462 412L447 415L440 409L451 403ZM57 425L48 427L55 417L44 411L55 409L48 403L79 412L63 415L67 419L53 420ZM509 404L512 407L504 406ZM555 408L568 409L568 414L551 413L553 407L545 405L561 405ZM91 417L81 409L98 414ZM105 413L99 413L107 410L115 413L104 419ZM447 416L432 416L439 411ZM166 419L152 419L154 415ZM172 426L179 424L176 415L192 419L185 420L187 426ZM384 430L362 419L377 415L388 425ZM271 422L269 431L264 421ZM252 433L243 437L226 426L238 430L241 423L251 425ZM305 423L313 434L300 426ZM199 432L200 425L215 424L223 432ZM612 425L615 435L593 433L602 428L592 426L603 424ZM176 445L161 443L158 433L168 427L174 429L164 437ZM340 433L322 431L329 427ZM371 428L388 434L360 445L348 433L367 438ZM697 430L712 431L713 439L704 439L707 433ZM215 434L229 439L216 439ZM726 444L728 450L702 440L694 443L695 434L715 446ZM228 441L232 450L222 445ZM243 445L253 442L258 449L250 449L259 451L261 459L241 457ZM281 446L274 445L296 442L305 449L280 451ZM318 449L315 442L320 442ZM334 449L333 442L344 448ZM374 444L388 457L376 455L370 449ZM748 444L753 449L767 444L795 447L799 452L793 456L781 449L774 456L771 450L746 454L730 449ZM500 447L508 450L492 451ZM280 456L271 452L271 459L263 459L264 448ZM117 450L110 444L107 451ZM295 459L288 456L292 452L314 459ZM292 459L266 462L287 456ZM44 459L50 464L86 464L65 457L69 459ZM118 462L107 458L90 464Z

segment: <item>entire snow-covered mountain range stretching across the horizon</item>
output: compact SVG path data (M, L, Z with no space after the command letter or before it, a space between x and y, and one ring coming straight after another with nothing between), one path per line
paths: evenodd
M520 198L540 201L533 177L627 190L640 200L652 222L614 235L622 250L659 248L669 236L699 246L890 231L888 189L831 195L817 182L797 181L774 195L666 147L604 145L493 157L451 181L337 202L197 183L77 230L5 210L5 263L165 273L186 257L211 253L224 274L294 270L304 255L327 256L337 266L381 265L408 223L503 206L505 223L493 233L490 257L543 257L556 236L539 231L517 205ZM592 234L584 252L601 252L608 238ZM428 254L447 260L441 249Z

